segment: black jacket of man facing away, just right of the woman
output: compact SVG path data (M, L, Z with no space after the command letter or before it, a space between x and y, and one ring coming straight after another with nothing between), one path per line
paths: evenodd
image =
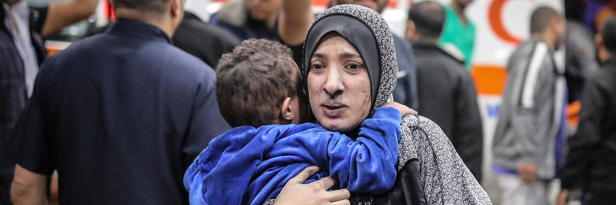
M439 125L480 181L484 134L471 75L436 44L415 41L412 45L417 60L417 112Z

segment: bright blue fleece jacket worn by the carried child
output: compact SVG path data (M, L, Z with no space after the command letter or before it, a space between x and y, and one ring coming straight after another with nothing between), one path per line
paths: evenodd
M236 127L209 143L188 167L184 186L190 204L263 204L306 167L331 175L354 193L383 193L394 186L400 111L378 108L357 139L319 124Z

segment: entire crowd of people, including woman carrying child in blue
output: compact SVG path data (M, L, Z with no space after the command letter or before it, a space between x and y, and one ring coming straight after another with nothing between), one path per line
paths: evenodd
M472 0L416 2L402 37L388 0L318 15L307 0L232 0L207 23L185 0L111 2L115 22L47 57L43 39L97 1L2 0L0 204L492 204ZM506 65L495 203L548 204L560 179L559 205L610 204L616 18L596 52L551 7L529 25Z

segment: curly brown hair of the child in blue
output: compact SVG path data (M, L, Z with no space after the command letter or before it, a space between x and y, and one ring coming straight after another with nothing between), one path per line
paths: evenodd
M230 126L261 127L278 119L285 98L296 97L301 90L301 75L292 57L291 49L265 39L248 39L222 55L216 69L216 98Z

